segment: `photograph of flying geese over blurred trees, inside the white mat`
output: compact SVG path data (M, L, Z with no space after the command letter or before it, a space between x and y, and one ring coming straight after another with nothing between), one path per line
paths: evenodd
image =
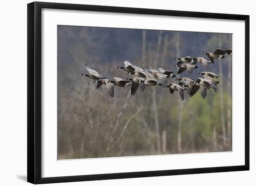
M58 160L232 151L232 55L232 33L58 25Z

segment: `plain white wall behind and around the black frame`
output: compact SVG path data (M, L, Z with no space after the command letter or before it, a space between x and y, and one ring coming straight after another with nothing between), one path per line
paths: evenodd
M52 2L127 6L250 15L250 171L164 176L123 180L103 180L58 185L256 185L255 143L256 100L256 10L252 0L51 0ZM27 174L27 3L29 0L2 1L0 6L0 185L22 186ZM210 29L210 28L209 28ZM243 64L242 64L243 65ZM235 85L236 86L236 85ZM53 185L53 184L51 184ZM57 185L57 184L55 184Z

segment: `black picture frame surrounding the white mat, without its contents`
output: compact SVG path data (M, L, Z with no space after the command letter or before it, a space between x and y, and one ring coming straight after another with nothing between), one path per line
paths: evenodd
M111 13L150 14L245 21L245 164L230 167L189 168L178 170L107 173L63 177L41 176L41 10L42 8ZM49 2L27 4L27 181L33 184L109 180L195 173L249 170L249 15L202 13L114 6L94 6Z

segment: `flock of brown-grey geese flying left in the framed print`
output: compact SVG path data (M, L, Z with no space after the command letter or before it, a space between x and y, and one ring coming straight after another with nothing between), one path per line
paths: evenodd
M179 67L177 74L181 74L184 71L188 71L189 74L192 74L193 70L198 68L195 66L196 63L201 63L205 68L209 68L209 64L214 64L214 59L224 58L225 55L232 56L232 50L222 50L216 49L216 51L203 52L204 55L207 55L209 59L198 57L183 57L183 58L175 58L178 62L175 64L175 67ZM163 87L167 87L171 94L175 91L178 91L182 100L184 100L184 90L187 90L187 93L190 97L194 96L195 93L200 89L202 98L206 97L207 90L213 89L217 92L217 85L219 82L215 81L214 78L218 78L219 76L213 72L204 71L198 73L198 75L202 75L202 77L198 77L196 80L189 77L176 78L175 81L178 83L168 83L168 78L175 77L173 74L174 71L167 71L163 68L149 69L142 68L132 64L129 61L124 61L124 66L118 66L117 69L122 69L128 72L128 75L134 75L134 78L122 79L120 77L114 77L113 79L109 79L107 77L102 76L98 73L93 67L90 67L88 64L85 64L86 70L89 74L82 74L84 77L89 77L94 79L95 83L97 83L96 88L99 89L103 84L105 85L106 90L108 91L109 96L114 97L114 86L131 86L131 95L134 96L138 87L140 86L141 90L144 91L146 86L155 86L160 85Z

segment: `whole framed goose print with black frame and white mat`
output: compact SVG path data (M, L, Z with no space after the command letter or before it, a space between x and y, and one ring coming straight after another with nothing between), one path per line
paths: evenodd
M27 52L28 182L249 170L248 15L33 2Z

